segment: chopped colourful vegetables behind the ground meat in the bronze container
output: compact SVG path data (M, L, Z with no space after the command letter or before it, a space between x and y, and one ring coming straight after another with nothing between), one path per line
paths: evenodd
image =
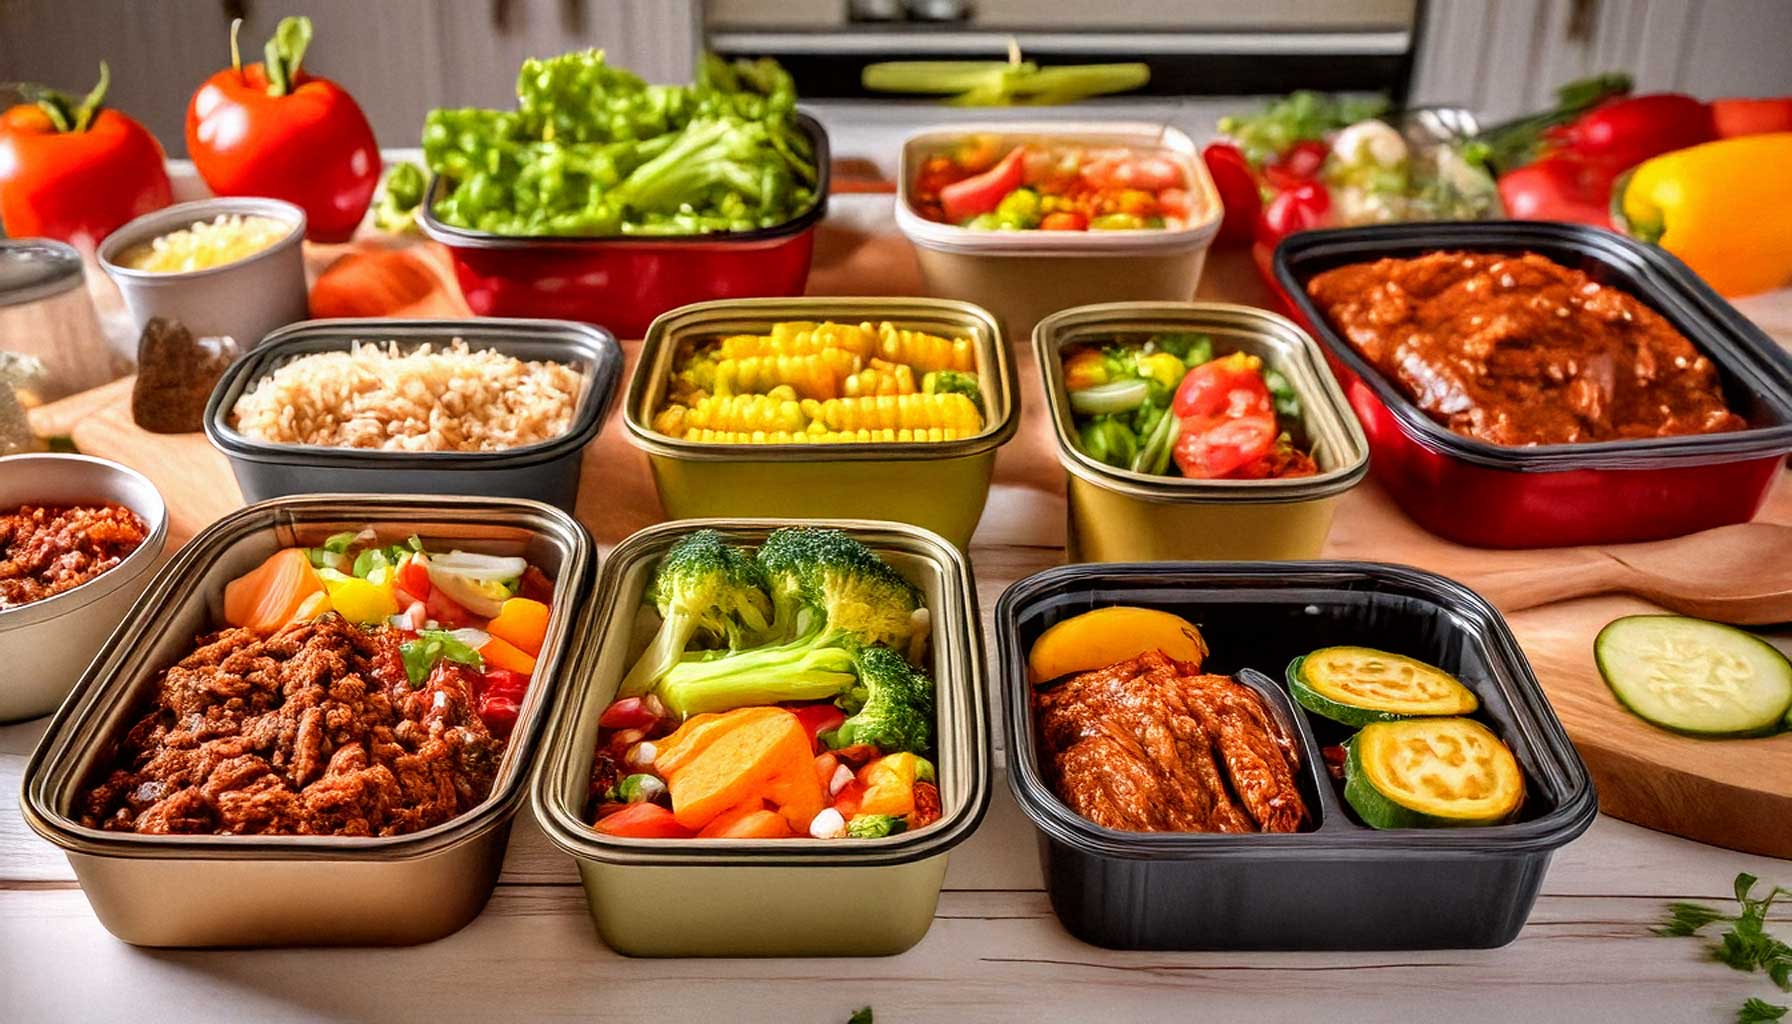
M371 529L337 533L319 547L283 547L224 588L224 620L274 633L340 615L403 629L410 685L443 662L478 673L477 712L507 737L547 638L554 581L523 558L430 552L416 536L380 543Z

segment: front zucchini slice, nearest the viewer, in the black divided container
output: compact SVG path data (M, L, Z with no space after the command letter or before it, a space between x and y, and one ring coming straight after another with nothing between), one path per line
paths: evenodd
M1371 829L1498 825L1525 802L1525 773L1466 717L1383 721L1346 744L1344 800Z

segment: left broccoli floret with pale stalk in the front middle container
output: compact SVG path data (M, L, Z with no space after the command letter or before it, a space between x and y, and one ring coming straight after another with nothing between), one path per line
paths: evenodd
M618 698L638 698L654 689L692 640L742 649L763 640L771 629L765 572L713 529L674 543L659 560L647 594L659 608L659 631L622 680Z

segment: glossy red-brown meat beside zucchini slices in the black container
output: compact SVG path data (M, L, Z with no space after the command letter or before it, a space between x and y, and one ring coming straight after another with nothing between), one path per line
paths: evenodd
M1052 789L1122 832L1294 832L1299 757L1263 698L1150 651L1034 694Z

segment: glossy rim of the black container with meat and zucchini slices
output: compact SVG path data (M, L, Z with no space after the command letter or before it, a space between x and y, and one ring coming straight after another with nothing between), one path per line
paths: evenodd
M1548 814L1512 825L1480 829L1396 829L1360 832L1288 832L1288 834L1219 834L1219 832L1122 832L1104 829L1064 805L1039 775L1032 732L1030 696L1027 680L1027 653L1020 649L1018 624L1023 608L1039 592L1064 583L1100 576L1156 577L1165 583L1183 583L1199 588L1199 577L1251 577L1269 586L1315 586L1344 577L1396 583L1430 592L1441 604L1466 608L1486 622L1486 640L1493 656L1511 669L1514 710L1534 726L1543 750L1539 766L1548 766L1561 784L1561 798ZM1489 854L1529 854L1557 850L1586 832L1598 814L1598 796L1593 778L1581 760L1561 721L1550 708L1543 687L1505 619L1484 597L1460 583L1405 565L1378 561L1134 561L1059 565L1020 579L996 601L996 671L1002 674L1002 717L1007 755L1007 780L1027 818L1054 843L1063 843L1100 857L1125 859L1181 859L1210 857L1254 859L1310 859L1321 850L1373 854L1376 857L1486 857Z

